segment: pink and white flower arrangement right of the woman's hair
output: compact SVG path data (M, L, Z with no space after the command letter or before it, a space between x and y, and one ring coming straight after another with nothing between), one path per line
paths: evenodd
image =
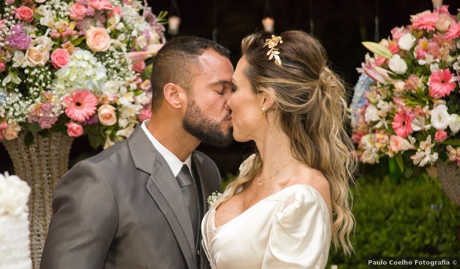
M460 14L448 9L412 15L388 39L363 42L373 55L358 68L350 110L360 161L460 166Z

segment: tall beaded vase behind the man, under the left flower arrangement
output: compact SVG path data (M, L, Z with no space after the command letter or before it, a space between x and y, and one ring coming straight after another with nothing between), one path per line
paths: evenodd
M73 138L62 133L42 137L36 133L30 146L24 144L24 132L17 139L3 140L13 160L16 175L32 188L29 197L30 250L34 269L39 269L49 220L52 193L58 180L69 170L69 152Z

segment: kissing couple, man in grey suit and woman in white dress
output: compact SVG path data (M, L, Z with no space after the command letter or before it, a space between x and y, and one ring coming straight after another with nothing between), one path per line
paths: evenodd
M152 68L152 116L76 164L53 194L41 269L324 268L350 254L352 143L345 88L302 31L243 39L230 51L178 37ZM220 190L201 143L253 140Z

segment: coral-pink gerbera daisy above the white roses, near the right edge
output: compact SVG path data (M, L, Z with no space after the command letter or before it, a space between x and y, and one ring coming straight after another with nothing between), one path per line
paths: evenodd
M450 72L449 68L437 69L437 71L431 72L428 80L430 84L429 95L434 98L449 95L455 88L455 81L454 74Z

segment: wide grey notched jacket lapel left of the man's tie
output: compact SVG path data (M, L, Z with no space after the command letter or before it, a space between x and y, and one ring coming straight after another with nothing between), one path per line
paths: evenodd
M136 168L150 174L147 191L168 221L188 268L196 269L192 224L177 179L140 125L128 139Z

